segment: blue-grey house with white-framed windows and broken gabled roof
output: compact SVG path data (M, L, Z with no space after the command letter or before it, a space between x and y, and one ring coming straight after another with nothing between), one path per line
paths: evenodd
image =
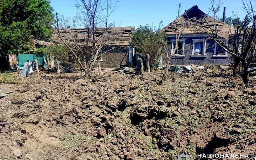
M196 24L200 24L199 29L195 26ZM217 31L216 36L220 39L220 43L228 44L229 37L234 34L234 27L224 23L224 21L207 16L198 9L197 5L193 6L164 28L167 34L169 54L172 54L176 45L177 29L174 26L184 27L184 30L177 42L177 50L172 55L172 64L228 65L230 63L231 55L225 52L213 39L209 39L208 34L212 34L211 29L213 29ZM165 63L167 57L163 56L163 60Z

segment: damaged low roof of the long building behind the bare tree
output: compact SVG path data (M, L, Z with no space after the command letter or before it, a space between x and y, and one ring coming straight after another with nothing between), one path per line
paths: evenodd
M97 28L95 32L95 37L99 37L105 32L105 28ZM110 41L107 45L114 46L128 46L130 41L132 40L132 35L135 31L135 27L110 27L107 29L107 34L110 35ZM67 42L73 42L74 36L77 41L77 44L80 46L86 46L86 39L91 36L88 32L88 28L64 28L60 29L60 35ZM41 46L50 46L52 44L63 44L61 41L57 30L54 31L52 37L49 42L40 41L35 39L35 43Z

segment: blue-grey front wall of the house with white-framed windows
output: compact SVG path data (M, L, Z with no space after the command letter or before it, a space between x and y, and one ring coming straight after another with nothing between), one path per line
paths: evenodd
M171 40L175 39L175 37L167 38L168 52L171 55ZM231 55L228 54L228 57L213 57L214 54L214 41L211 39L207 39L206 41L206 56L205 58L191 57L192 49L193 49L193 39L205 39L205 37L181 37L180 39L186 39L185 41L185 57L173 57L171 60L171 64L174 65L228 65L231 60ZM166 55L162 56L162 63L166 64L167 62Z

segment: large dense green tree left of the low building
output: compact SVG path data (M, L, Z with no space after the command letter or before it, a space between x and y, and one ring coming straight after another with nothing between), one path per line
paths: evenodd
M31 34L49 39L53 33L53 11L49 0L0 0L0 60L27 50ZM4 65L0 69L6 69Z

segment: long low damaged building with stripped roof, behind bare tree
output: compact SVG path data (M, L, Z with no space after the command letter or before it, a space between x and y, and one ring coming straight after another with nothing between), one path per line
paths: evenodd
M105 30L105 28L102 28ZM101 66L104 68L112 68L117 67L120 62L122 64L126 63L128 57L128 47L131 41L131 36L135 31L135 27L110 27L108 28L108 34L111 35L111 42L108 45L104 46L101 49L100 56L97 58L100 61ZM102 33L101 28L98 28L96 31L96 35L100 35ZM81 47L85 46L86 38L88 37L88 29L87 28L63 28L60 29L60 35L65 41L72 43L74 36L76 39L77 45ZM50 46L52 44L63 44L61 41L59 34L57 31L53 33L53 36L50 38L49 42L35 40L36 48L41 46ZM107 52L106 52L107 51ZM106 53L105 53L106 52Z

